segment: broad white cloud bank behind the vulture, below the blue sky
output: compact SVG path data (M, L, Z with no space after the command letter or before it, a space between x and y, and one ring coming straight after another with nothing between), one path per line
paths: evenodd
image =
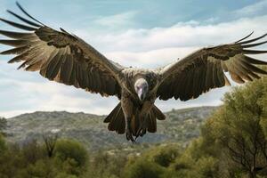
M105 20L101 20L104 22ZM210 44L238 40L252 30L265 33L267 15L234 20L216 25L200 25L196 21L178 23L169 28L130 29L120 34L76 34L104 52L109 59L125 66L155 68L166 65ZM74 87L41 79L37 74L15 71L14 65L0 61L0 116L11 117L36 110L85 111L108 114L116 106L114 97L85 93ZM160 109L219 105L229 88L216 89L194 101L157 101Z

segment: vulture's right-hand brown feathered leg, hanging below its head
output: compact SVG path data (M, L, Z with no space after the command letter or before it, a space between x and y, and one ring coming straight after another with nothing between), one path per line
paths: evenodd
M136 138L140 135L143 136L144 134L147 133L147 129L148 129L148 122L149 122L149 114L150 114L150 110L152 109L154 103L151 101L144 101L142 104L142 109L140 112L140 126L139 129L137 131L136 134ZM136 139L135 138L135 139Z

